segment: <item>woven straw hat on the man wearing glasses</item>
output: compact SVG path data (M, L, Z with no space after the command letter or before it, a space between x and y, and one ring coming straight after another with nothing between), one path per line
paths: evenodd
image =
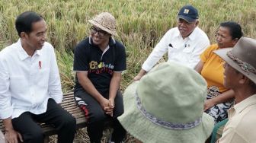
M116 31L116 19L108 12L102 12L101 14L96 15L92 20L89 20L89 22L111 35L118 36Z

